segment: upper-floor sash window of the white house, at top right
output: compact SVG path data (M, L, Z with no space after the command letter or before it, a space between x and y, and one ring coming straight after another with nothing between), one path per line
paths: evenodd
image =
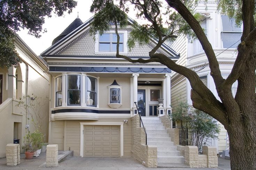
M235 24L235 19L222 15L221 39L223 48L236 48L241 42L242 28Z

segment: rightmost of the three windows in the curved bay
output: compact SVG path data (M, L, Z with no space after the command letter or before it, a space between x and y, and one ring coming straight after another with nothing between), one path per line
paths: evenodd
M86 95L86 104L87 106L97 106L97 79L94 77L87 76L86 78L87 83L87 95Z

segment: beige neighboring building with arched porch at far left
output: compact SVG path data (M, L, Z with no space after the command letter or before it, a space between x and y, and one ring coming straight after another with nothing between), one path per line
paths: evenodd
M23 137L26 135L26 125L33 132L35 128L28 114L16 105L19 98L32 93L39 97L49 96L49 74L47 66L34 52L17 36L15 47L23 60L17 68L0 68L0 157L6 156L5 146L20 139L23 146ZM42 133L45 142L48 142L49 104L43 107L47 118L43 120ZM24 150L21 148L21 151Z

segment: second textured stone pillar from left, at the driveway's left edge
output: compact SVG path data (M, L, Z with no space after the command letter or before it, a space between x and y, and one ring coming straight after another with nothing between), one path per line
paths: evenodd
M46 167L57 167L58 165L58 145L47 145Z

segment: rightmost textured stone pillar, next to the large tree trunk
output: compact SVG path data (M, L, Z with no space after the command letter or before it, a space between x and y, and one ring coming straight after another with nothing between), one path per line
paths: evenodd
M208 168L218 168L217 148L215 146L203 146L203 154L208 157Z

